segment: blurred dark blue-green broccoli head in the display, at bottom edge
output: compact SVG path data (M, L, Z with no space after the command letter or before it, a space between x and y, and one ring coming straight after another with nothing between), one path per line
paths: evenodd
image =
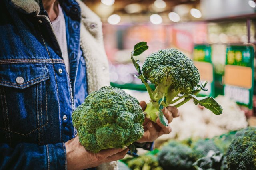
M196 157L190 147L172 141L160 150L158 161L164 170L193 170Z

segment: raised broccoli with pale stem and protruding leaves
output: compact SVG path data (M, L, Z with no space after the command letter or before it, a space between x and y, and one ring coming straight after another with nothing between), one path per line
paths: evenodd
M167 126L168 121L161 111L163 107L174 103L175 107L179 107L190 99L194 99L196 105L199 103L216 115L222 113L222 107L212 97L196 97L200 90L206 90L204 87L207 82L198 85L200 73L184 53L177 49L159 50L149 55L140 69L139 60L135 60L134 56L140 55L146 49L146 42L136 44L131 57L138 71L136 77L144 83L151 99L144 111L146 117L154 122L159 117L160 122ZM154 90L148 85L148 80L155 85ZM180 99L183 101L177 103Z

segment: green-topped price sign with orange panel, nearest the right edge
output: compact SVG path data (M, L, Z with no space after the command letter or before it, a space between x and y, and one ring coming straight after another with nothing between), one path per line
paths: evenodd
M254 87L254 48L252 45L227 47L224 95L252 109Z

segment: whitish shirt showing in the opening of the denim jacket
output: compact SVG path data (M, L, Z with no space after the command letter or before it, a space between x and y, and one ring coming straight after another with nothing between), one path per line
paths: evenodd
M69 58L68 58L68 45L67 45L67 38L66 38L65 18L62 12L62 8L60 7L60 4L58 4L58 9L59 9L59 14L57 18L54 21L52 21L52 26L54 28L55 36L60 45L60 50L62 53L62 57L64 59L66 70L68 71L68 74L69 74Z

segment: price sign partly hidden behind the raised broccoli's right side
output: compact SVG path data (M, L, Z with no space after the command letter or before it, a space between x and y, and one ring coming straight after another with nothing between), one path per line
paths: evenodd
M200 91L200 95L214 96L214 74L211 53L210 45L194 46L193 60L200 73L200 83L208 81L206 85L208 91Z

